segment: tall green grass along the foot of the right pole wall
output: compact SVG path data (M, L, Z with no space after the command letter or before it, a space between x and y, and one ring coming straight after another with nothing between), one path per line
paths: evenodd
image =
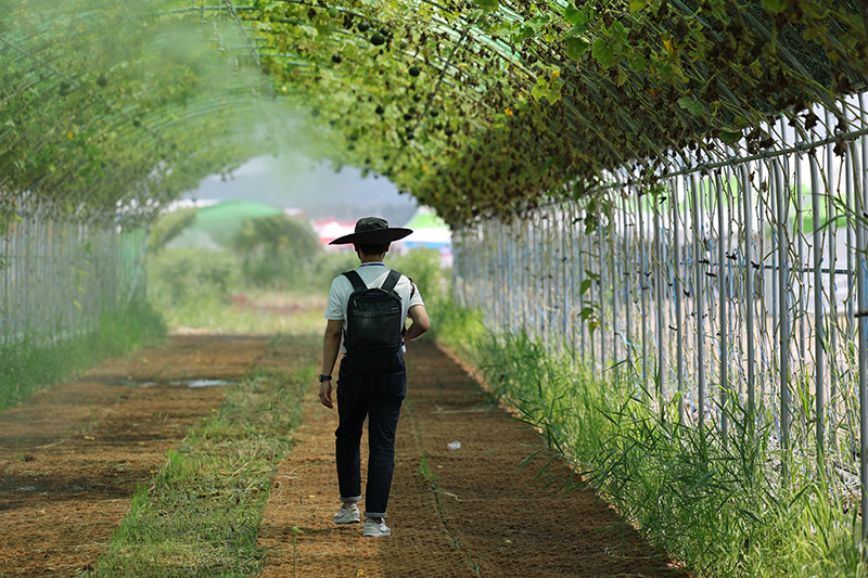
M537 464L539 483L578 485L544 463L565 458L651 543L700 576L868 576L855 509L837 504L810 464L791 467L781 484L769 432L740 426L738 411L723 444L714 428L673 423L674 406L661 422L616 372L595 380L574 355L526 333L474 345L472 361L493 393L541 431L545 446L524 464Z

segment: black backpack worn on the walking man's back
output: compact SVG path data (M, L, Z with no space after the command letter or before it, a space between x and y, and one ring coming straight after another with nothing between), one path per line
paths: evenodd
M368 287L356 271L344 273L355 290L346 306L344 345L355 375L386 375L404 369L404 325L400 296L392 270L382 287Z

